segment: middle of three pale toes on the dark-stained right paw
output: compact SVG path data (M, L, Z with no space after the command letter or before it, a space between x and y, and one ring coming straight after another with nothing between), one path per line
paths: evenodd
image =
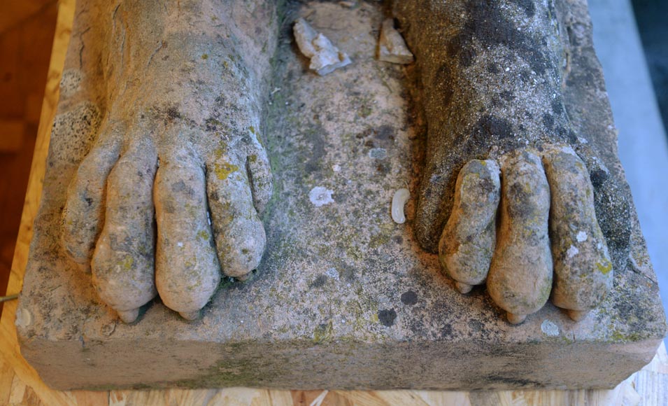
M550 187L541 159L527 151L506 155L501 172L500 224L487 288L508 321L517 324L550 297Z

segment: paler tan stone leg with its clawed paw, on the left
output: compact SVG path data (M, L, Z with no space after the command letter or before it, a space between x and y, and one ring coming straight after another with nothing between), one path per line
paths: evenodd
M54 137L81 127L91 141L62 244L125 322L156 294L197 318L221 272L246 279L262 259L273 3L77 4Z

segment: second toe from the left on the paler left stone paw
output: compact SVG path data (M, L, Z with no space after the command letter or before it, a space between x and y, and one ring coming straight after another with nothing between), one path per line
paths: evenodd
M149 141L134 143L109 174L104 227L91 268L103 302L122 321L156 295L152 188L157 156Z

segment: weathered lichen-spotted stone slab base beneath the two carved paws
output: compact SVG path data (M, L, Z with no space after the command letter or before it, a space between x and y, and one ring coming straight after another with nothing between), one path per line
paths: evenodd
M590 83L567 83L569 114L615 151L585 1L564 2L585 40L571 76ZM226 281L199 321L155 300L126 325L99 302L59 245L78 162L58 152L87 140L52 139L17 311L22 354L48 385L611 388L651 360L666 325L635 214L632 255L602 307L575 323L548 303L509 325L484 286L460 295L413 241L413 199L408 221L392 222L395 190L415 190L424 129L409 113L405 68L374 59L380 10L314 2L299 14L353 64L309 73L286 29L276 62L285 80L266 126L276 179L267 253L253 279Z

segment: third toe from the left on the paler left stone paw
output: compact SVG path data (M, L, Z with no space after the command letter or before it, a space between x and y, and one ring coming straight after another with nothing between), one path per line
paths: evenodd
M192 319L218 287L220 266L208 218L204 169L190 153L162 160L154 201L157 290L166 307Z

